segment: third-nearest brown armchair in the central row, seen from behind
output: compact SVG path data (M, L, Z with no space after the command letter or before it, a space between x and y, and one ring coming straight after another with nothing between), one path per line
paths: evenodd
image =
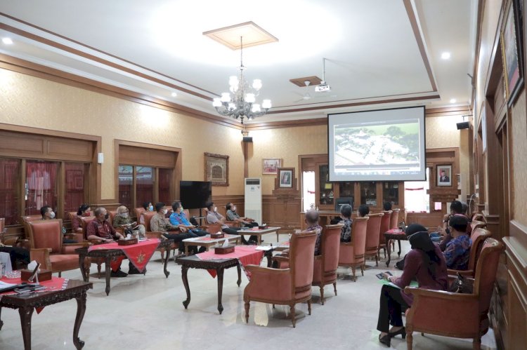
M339 266L351 267L353 281L356 267L360 267L360 273L364 276L364 253L366 250L366 231L369 217L356 217L351 224L351 242L340 242Z

